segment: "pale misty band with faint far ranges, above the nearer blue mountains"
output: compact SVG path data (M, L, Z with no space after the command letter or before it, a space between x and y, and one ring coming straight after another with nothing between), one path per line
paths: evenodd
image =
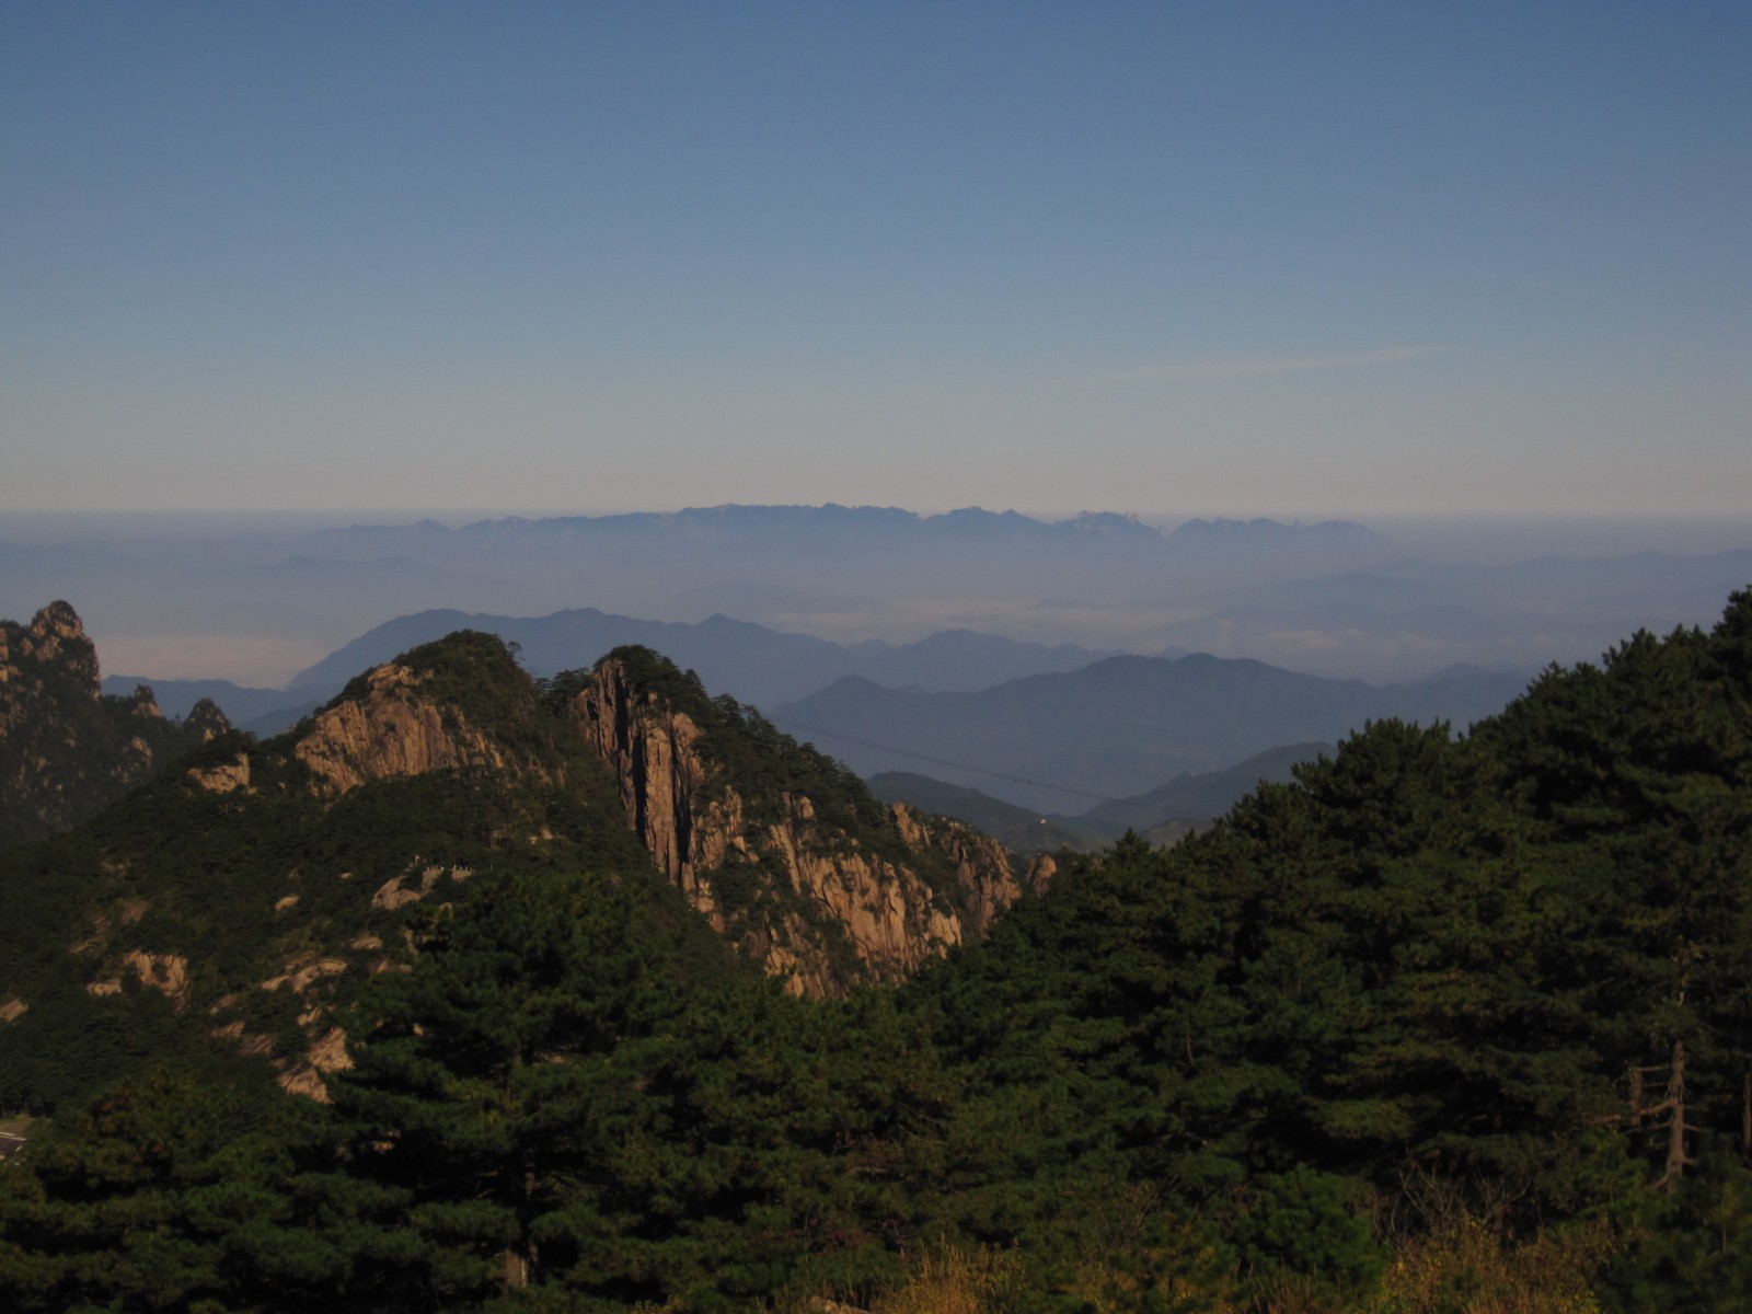
M1594 661L1636 629L1712 620L1752 580L1752 520L1743 531L1396 522L1388 536L1351 520L1163 527L1109 512L1044 520L829 505L315 533L81 526L63 541L0 543L0 615L79 597L114 669L163 676L159 655L175 652L175 675L247 687L280 685L391 617L582 606L652 624L736 617L846 646L972 631L1088 652L1251 657L1388 683L1454 664L1528 671ZM1670 550L1629 550L1654 543ZM1577 550L1559 555L1554 545ZM827 666L830 678L923 683L904 671ZM993 668L979 680L1025 673ZM152 683L168 701L165 682ZM802 678L748 689L738 696L755 703L813 692Z

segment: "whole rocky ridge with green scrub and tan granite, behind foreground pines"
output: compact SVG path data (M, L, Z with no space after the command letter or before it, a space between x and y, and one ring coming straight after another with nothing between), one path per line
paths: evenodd
M95 676L67 617L51 617L60 652ZM816 997L978 939L1053 871L880 804L650 650L540 682L464 631L359 675L284 736L215 734L7 855L0 1067L18 1090L0 1097L88 1084L100 1058L46 1046L114 1028L116 1009L268 1056L321 1095L357 990L403 971L445 906L531 867L608 874L659 920L699 915L732 960Z

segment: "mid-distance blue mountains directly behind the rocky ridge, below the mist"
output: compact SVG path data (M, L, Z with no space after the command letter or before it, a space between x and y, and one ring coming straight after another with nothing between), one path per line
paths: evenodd
M837 645L727 617L680 624L576 608L547 617L452 610L399 617L307 668L286 690L151 683L172 715L207 697L240 729L275 734L333 697L352 673L459 629L517 645L524 668L541 676L589 666L624 645L648 646L694 669L713 694L769 711L780 727L864 776L923 773L1065 815L1130 801L1179 774L1223 771L1284 743L1332 743L1370 718L1442 718L1465 729L1501 710L1529 676L1454 669L1377 687L1204 653L1111 655L969 631L904 645ZM112 678L105 689L133 683ZM1242 781L1228 797L1251 785ZM1128 813L1132 820L1095 829L1116 834L1139 818L1155 825L1160 818L1149 813L1158 802L1148 799ZM1218 815L1226 806L1219 802L1184 815Z

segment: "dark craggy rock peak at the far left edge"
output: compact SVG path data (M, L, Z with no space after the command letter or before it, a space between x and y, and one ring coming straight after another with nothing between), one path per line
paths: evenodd
M226 729L207 701L173 722L145 685L105 697L67 603L0 620L0 848L65 830Z

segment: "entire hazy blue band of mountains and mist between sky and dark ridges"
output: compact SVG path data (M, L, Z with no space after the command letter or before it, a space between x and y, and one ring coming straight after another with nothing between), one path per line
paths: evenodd
M922 774L1055 815L1370 718L1463 731L1538 669L1701 624L1752 578L1752 548L1720 547L1752 541L1733 520L1382 533L829 505L23 527L35 543L0 541L0 604L89 597L105 689L147 683L168 715L210 697L277 732L359 669L454 629L515 641L543 676L638 643L865 776ZM1515 547L1591 555L1501 559ZM426 601L452 604L413 608ZM251 678L266 669L280 678Z

